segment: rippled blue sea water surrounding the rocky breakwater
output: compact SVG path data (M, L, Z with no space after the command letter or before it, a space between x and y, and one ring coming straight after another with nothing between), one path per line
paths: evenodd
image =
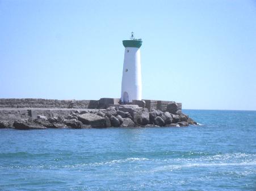
M199 126L0 129L0 190L256 190L256 111Z

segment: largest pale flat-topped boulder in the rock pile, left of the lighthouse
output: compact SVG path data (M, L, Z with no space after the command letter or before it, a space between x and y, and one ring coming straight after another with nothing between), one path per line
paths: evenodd
M82 114L78 116L78 120L83 124L91 125L91 127L103 128L105 127L105 118L96 114Z

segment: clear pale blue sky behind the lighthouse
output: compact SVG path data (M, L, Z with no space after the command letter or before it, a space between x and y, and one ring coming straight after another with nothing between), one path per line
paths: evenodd
M0 0L0 98L120 98L142 38L142 99L256 110L256 1Z

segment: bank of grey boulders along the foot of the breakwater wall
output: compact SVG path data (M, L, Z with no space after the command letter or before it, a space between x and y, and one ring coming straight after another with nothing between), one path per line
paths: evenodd
M182 112L152 110L138 105L110 106L106 109L1 108L0 128L108 128L184 127L197 123Z

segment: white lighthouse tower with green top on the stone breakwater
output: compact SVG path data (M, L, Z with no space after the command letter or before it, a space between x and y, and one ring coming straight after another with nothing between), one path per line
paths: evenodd
M121 88L121 102L132 102L133 99L141 100L141 64L140 64L140 47L141 39L135 39L133 36L130 40L124 40L124 67Z

